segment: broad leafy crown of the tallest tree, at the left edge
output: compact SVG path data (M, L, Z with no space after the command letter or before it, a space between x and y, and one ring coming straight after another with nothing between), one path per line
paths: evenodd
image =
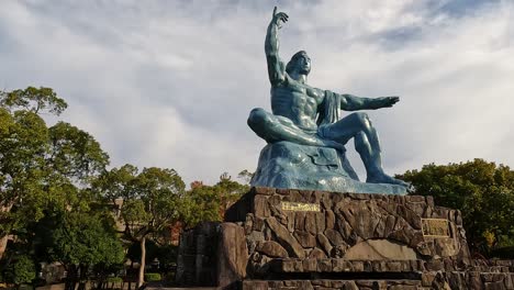
M0 92L0 237L20 235L47 209L77 207L108 155L87 132L59 122L47 127L41 110L67 104L48 88ZM83 205L83 204L82 204Z

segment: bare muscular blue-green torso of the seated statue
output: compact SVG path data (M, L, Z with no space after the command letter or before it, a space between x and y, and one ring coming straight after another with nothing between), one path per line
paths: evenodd
M295 125L315 131L317 107L323 101L323 91L287 77L280 86L271 87L271 111L290 119Z

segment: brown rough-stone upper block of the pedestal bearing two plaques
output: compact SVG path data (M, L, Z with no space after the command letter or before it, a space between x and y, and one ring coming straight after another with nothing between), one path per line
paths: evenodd
M257 271L271 258L469 264L460 212L432 197L254 188L225 219L244 226Z

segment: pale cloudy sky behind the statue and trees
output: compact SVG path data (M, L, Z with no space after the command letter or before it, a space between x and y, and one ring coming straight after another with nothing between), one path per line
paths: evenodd
M112 166L175 168L187 182L253 171L269 110L264 38L289 14L281 56L305 49L309 82L366 97L387 171L476 157L514 167L514 1L0 1L0 86L52 87L60 119ZM347 145L353 164L362 166Z

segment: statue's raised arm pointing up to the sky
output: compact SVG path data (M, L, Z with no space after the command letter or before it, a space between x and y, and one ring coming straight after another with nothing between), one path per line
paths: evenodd
M278 30L281 27L281 23L286 23L288 19L288 14L283 12L277 13L277 7L275 7L273 16L268 25L268 32L266 33L265 52L271 86L277 86L286 79L286 68L282 62L280 62L280 57L278 55Z

